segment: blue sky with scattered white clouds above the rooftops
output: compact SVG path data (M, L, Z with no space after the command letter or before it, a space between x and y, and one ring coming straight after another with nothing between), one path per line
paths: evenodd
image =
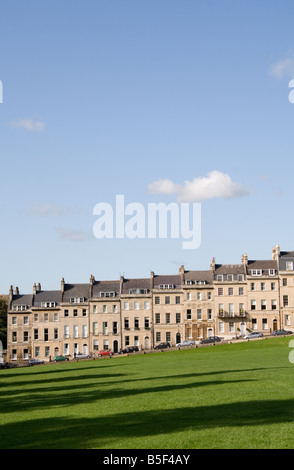
M293 250L293 19L292 0L0 1L0 293ZM200 202L199 248L96 239L118 194Z

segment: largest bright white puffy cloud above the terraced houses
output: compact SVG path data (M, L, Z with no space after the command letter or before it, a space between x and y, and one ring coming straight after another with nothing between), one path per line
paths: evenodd
M213 198L232 199L249 194L248 189L234 183L229 175L217 170L183 184L175 184L168 179L157 180L148 185L148 190L153 194L175 194L179 202L200 202Z

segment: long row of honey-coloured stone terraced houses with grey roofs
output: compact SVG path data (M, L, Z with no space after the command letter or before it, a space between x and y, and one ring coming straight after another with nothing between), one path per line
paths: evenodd
M32 294L10 287L7 359L47 361L56 355L126 346L150 350L161 342L212 335L232 339L249 331L270 334L294 328L294 252L277 245L272 259L216 264L209 270L141 279L67 284Z

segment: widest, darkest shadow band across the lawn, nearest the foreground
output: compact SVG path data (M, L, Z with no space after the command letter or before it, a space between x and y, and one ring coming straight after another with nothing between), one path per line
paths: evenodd
M294 400L235 402L171 410L116 413L93 418L46 418L2 426L2 449L127 448L131 438L215 428L292 423ZM225 431L223 431L225 432ZM248 435L250 429L248 430ZM138 442L138 441L136 441ZM118 446L118 447L116 447ZM162 446L160 446L162 448ZM156 448L153 447L153 448ZM168 444L165 448L169 448ZM197 441L195 441L197 448Z

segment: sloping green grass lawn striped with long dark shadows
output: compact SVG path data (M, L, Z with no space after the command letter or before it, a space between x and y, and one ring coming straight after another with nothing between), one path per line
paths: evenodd
M1 370L0 448L292 449L291 338Z

